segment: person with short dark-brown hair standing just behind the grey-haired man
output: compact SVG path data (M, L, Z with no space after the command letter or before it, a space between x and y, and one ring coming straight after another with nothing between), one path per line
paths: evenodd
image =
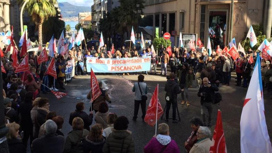
M38 138L40 126L45 123L46 115L49 113L49 99L41 98L38 103L37 115L35 119L35 135Z

